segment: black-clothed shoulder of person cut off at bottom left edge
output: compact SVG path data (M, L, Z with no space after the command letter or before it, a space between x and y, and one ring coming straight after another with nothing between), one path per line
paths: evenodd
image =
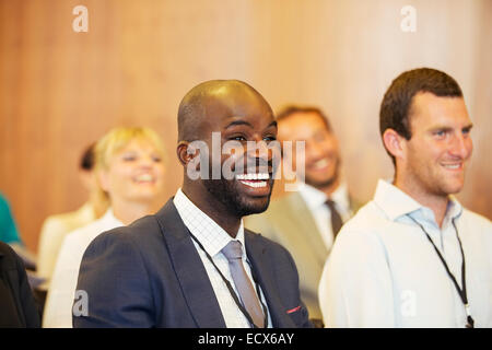
M39 312L22 259L0 242L0 327L39 326Z

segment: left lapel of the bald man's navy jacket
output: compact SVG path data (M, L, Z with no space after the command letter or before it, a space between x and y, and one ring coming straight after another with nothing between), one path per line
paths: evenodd
M173 199L156 213L169 257L189 311L200 328L225 328L203 262Z

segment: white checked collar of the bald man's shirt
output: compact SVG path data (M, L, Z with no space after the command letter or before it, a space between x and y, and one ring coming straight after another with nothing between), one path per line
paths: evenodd
M185 225L210 256L213 257L219 254L231 241L239 241L243 245L243 258L246 257L243 220L241 220L236 238L233 238L215 221L201 211L180 188L177 190L173 202Z

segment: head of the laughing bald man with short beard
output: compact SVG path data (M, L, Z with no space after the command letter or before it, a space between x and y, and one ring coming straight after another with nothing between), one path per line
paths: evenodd
M216 222L234 222L226 231L235 236L241 218L270 201L276 148L269 145L277 140L270 105L242 81L207 81L183 98L178 131L183 192ZM247 173L262 176L246 180Z

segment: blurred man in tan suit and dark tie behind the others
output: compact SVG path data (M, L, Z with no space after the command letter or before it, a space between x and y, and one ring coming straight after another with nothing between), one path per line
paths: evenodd
M293 141L291 149L295 150L295 142L305 141L305 170L301 170L305 184L273 200L265 213L247 217L245 226L291 252L298 269L301 298L313 323L321 327L317 289L323 267L338 231L360 203L349 195L341 178L338 140L319 108L290 106L279 113L277 122L282 145ZM288 151L284 147L284 155ZM292 164L297 164L292 155Z

